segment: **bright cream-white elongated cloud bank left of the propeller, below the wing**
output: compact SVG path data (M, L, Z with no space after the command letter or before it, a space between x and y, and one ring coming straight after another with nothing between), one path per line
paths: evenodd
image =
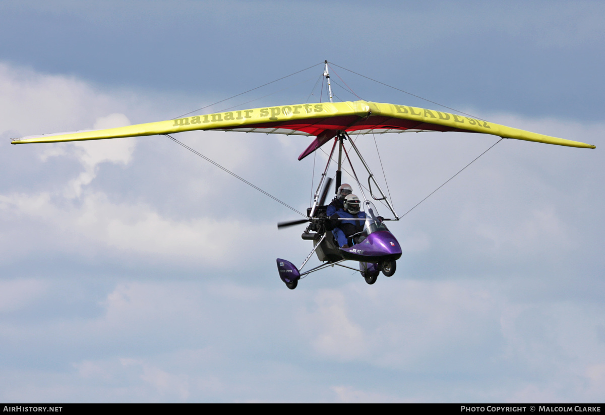
M65 203L56 195L8 194L0 196L4 217L40 223L50 235L36 238L41 227L21 234L20 255L36 250L67 250L82 255L91 249L109 249L113 255L143 255L168 261L219 266L230 258L240 241L267 234L267 225L200 217L171 220L144 203L112 203L101 192L87 192L79 203ZM54 244L51 240L55 239ZM9 243L7 241L7 243ZM245 254L246 256L248 253Z

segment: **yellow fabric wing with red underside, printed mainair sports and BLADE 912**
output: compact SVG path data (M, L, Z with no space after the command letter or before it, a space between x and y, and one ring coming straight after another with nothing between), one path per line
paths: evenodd
M15 139L13 144L55 143L81 140L154 136L197 129L296 134L316 139L299 157L306 157L339 131L370 132L458 131L482 132L509 139L560 146L595 148L593 145L494 124L472 117L442 113L434 109L366 101L313 103L243 109L120 128L45 134Z

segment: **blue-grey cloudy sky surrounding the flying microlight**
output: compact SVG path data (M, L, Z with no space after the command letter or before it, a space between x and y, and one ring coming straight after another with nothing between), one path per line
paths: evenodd
M1 2L0 400L603 402L604 17L597 1ZM324 59L336 100L348 85L597 148L502 140L389 223L394 276L330 268L289 290L276 258L312 246L276 223L296 214L166 137L10 145L305 68L201 112L325 101ZM177 138L299 211L327 160L296 160L305 137ZM495 142L358 145L402 215Z

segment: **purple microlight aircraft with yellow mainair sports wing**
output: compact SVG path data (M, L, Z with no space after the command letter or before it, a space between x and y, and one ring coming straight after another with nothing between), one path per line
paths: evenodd
M315 191L312 206L307 209L307 217L278 224L278 227L309 223L302 234L303 240L313 241L313 250L297 268L289 261L278 258L277 266L280 278L289 289L295 289L299 279L309 273L328 266L342 266L359 270L368 284L374 284L379 273L391 276L396 269L396 260L401 255L401 247L396 238L388 231L385 221L399 220L396 212L384 194L370 168L351 139L349 133L356 135L384 134L387 132L455 131L491 134L507 139L526 140L537 143L554 144L578 148L595 148L593 145L545 136L535 132L511 128L486 122L470 116L445 113L434 109L417 108L407 105L376 103L359 100L355 102L333 102L328 64L325 62L324 76L327 80L330 102L304 103L300 105L268 106L265 108L243 109L224 113L204 114L182 117L167 121L130 125L120 128L98 129L91 131L62 132L28 136L11 140L13 144L57 143L84 140L117 139L122 137L143 137L174 134L194 130L219 130L240 132L263 132L266 134L286 134L288 136L315 137L312 143L298 156L298 160L307 157L322 145L332 142L332 150ZM383 218L373 202L363 191L350 157L344 148L344 141L350 143L353 152L361 160L368 173L367 192L375 201L381 201L393 214L393 218ZM350 164L362 195L362 209L365 212L364 230L352 237L351 247L339 247L330 232L330 220L326 217L325 197L332 181L327 171L333 155L338 148L335 187L341 185L343 162ZM344 154L344 157L343 157ZM320 192L320 190L322 191ZM320 194L321 193L321 194ZM362 219L360 219L362 220ZM338 226L338 224L336 224ZM316 253L321 265L302 272L313 253ZM358 261L357 269L345 266L344 261Z

